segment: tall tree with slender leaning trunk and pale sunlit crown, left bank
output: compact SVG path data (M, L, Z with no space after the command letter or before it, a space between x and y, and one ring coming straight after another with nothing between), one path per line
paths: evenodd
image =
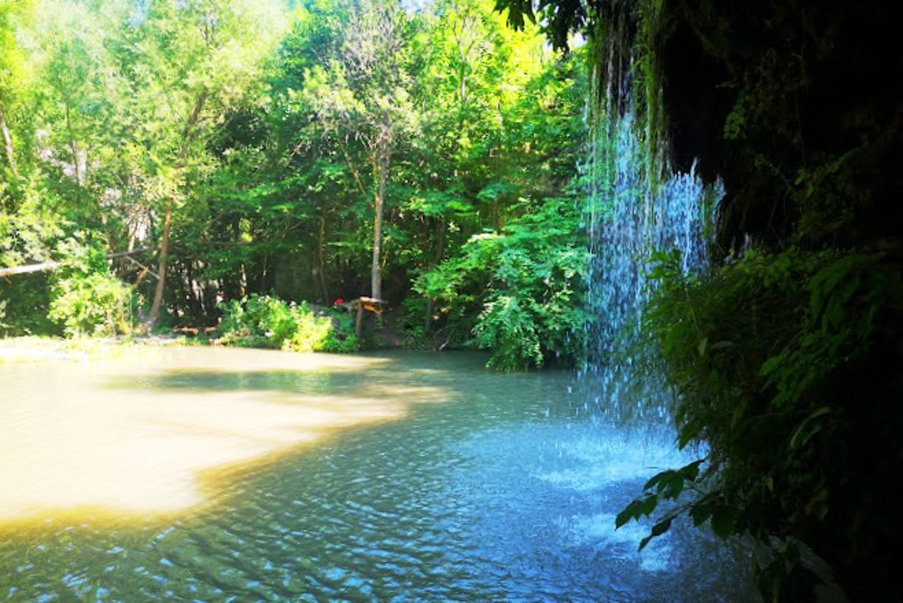
M149 200L163 210L157 285L147 323L163 303L173 212L191 199L190 184L209 171L207 137L225 111L260 76L280 32L278 5L243 0L161 1L125 26L122 68L132 133L144 151L137 166Z

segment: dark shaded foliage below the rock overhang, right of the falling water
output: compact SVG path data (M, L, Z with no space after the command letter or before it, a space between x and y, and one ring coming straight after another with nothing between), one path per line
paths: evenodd
M889 535L903 531L883 494L900 485L894 459L903 455L897 260L749 252L705 279L684 277L676 253L654 261L660 287L647 328L675 391L678 443L704 442L709 454L700 494L651 536L685 512L696 524L711 520L721 536L777 542L760 578L788 600L813 579L794 542L840 570L880 557L896 542ZM656 492L630 504L619 524L697 481L686 468L650 480ZM879 483L876 474L894 477ZM872 571L889 579L889 566Z

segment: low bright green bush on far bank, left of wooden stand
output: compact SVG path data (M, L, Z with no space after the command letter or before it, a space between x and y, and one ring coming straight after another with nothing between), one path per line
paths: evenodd
M224 305L219 323L219 343L240 347L270 347L293 352L342 352L358 350L357 337L348 316L338 311L315 312L278 297L234 299Z

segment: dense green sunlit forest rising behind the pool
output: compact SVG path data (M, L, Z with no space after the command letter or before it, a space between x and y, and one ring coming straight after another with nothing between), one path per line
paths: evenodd
M585 77L493 8L5 1L0 266L68 268L3 279L4 328L100 328L79 295L125 284L152 326L371 296L414 342L479 343L484 313L483 345L533 333L507 368L563 351L536 333L581 319Z

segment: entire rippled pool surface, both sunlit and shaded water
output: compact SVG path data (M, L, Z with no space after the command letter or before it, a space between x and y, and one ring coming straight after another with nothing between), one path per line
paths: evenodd
M0 364L0 598L749 600L614 516L673 438L464 353L174 349Z

